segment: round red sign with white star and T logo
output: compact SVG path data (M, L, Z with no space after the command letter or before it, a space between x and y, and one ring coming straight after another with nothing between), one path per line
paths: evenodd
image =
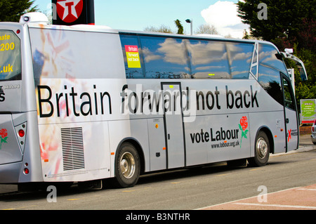
M56 10L63 22L76 21L84 8L83 0L57 0Z

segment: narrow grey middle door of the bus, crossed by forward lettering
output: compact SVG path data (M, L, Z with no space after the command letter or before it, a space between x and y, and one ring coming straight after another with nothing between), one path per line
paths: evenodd
M180 83L162 83L167 168L185 166L185 138Z

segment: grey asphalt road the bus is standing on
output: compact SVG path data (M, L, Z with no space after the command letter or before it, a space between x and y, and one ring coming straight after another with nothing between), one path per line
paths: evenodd
M200 209L257 197L259 186L266 187L270 194L315 185L315 152L309 136L304 136L299 150L272 156L267 166L230 168L221 163L142 176L138 185L126 189L87 191L72 187L58 191L57 202L48 202L49 192L16 192L12 185L1 185L0 209ZM315 197L310 200L316 202Z

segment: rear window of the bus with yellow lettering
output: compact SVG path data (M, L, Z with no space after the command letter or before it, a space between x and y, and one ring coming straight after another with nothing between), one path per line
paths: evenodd
M0 81L20 79L20 39L12 31L0 30Z

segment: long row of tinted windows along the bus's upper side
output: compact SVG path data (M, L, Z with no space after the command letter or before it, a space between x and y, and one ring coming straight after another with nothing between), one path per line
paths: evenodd
M260 43L254 51L254 43L241 41L133 34L120 38L127 79L249 79L252 73L283 105L280 72L287 74L287 68L270 44Z

